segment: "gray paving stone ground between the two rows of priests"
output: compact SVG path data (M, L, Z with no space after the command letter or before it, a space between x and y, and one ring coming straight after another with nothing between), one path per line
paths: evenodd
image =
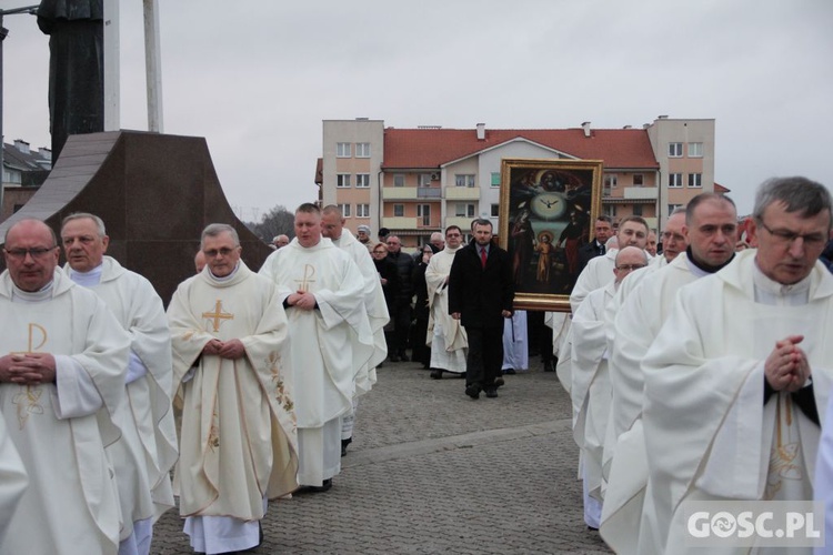
M531 364L473 401L464 380L387 362L333 488L271 503L250 553L611 553L584 525L569 396ZM175 509L151 553L192 553Z

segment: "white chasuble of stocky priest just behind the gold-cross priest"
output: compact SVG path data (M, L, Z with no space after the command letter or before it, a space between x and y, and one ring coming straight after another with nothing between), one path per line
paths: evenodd
M289 357L298 427L323 427L352 410L357 365L373 354L362 274L327 238L311 248L293 239L260 274L275 283L281 302L297 291L315 296L314 310L287 309Z

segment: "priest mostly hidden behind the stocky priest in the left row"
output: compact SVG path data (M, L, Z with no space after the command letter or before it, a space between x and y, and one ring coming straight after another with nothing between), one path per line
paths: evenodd
M347 447L353 441L355 426L355 411L359 397L377 383L377 366L388 356L388 343L384 340L384 326L390 321L384 292L379 279L379 272L368 248L360 243L350 230L344 229L344 216L339 206L325 206L321 214L321 234L332 241L332 244L350 254L364 278L364 307L368 310L370 330L373 333L373 354L369 361L357 361L355 395L352 410L341 418L341 454L347 454Z

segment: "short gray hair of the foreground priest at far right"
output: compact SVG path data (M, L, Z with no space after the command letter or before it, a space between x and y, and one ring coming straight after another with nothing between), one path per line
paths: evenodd
M825 210L833 212L830 191L821 183L800 175L764 181L755 193L752 218L761 222L764 211L775 202L784 204L787 212L799 212L804 218L812 218Z

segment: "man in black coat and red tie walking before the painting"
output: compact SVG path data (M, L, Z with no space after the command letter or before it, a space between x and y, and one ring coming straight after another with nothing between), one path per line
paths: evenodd
M465 394L496 397L503 363L503 319L512 316L514 286L509 253L492 244L492 222L472 223L474 239L460 249L449 274L449 314L469 336Z

